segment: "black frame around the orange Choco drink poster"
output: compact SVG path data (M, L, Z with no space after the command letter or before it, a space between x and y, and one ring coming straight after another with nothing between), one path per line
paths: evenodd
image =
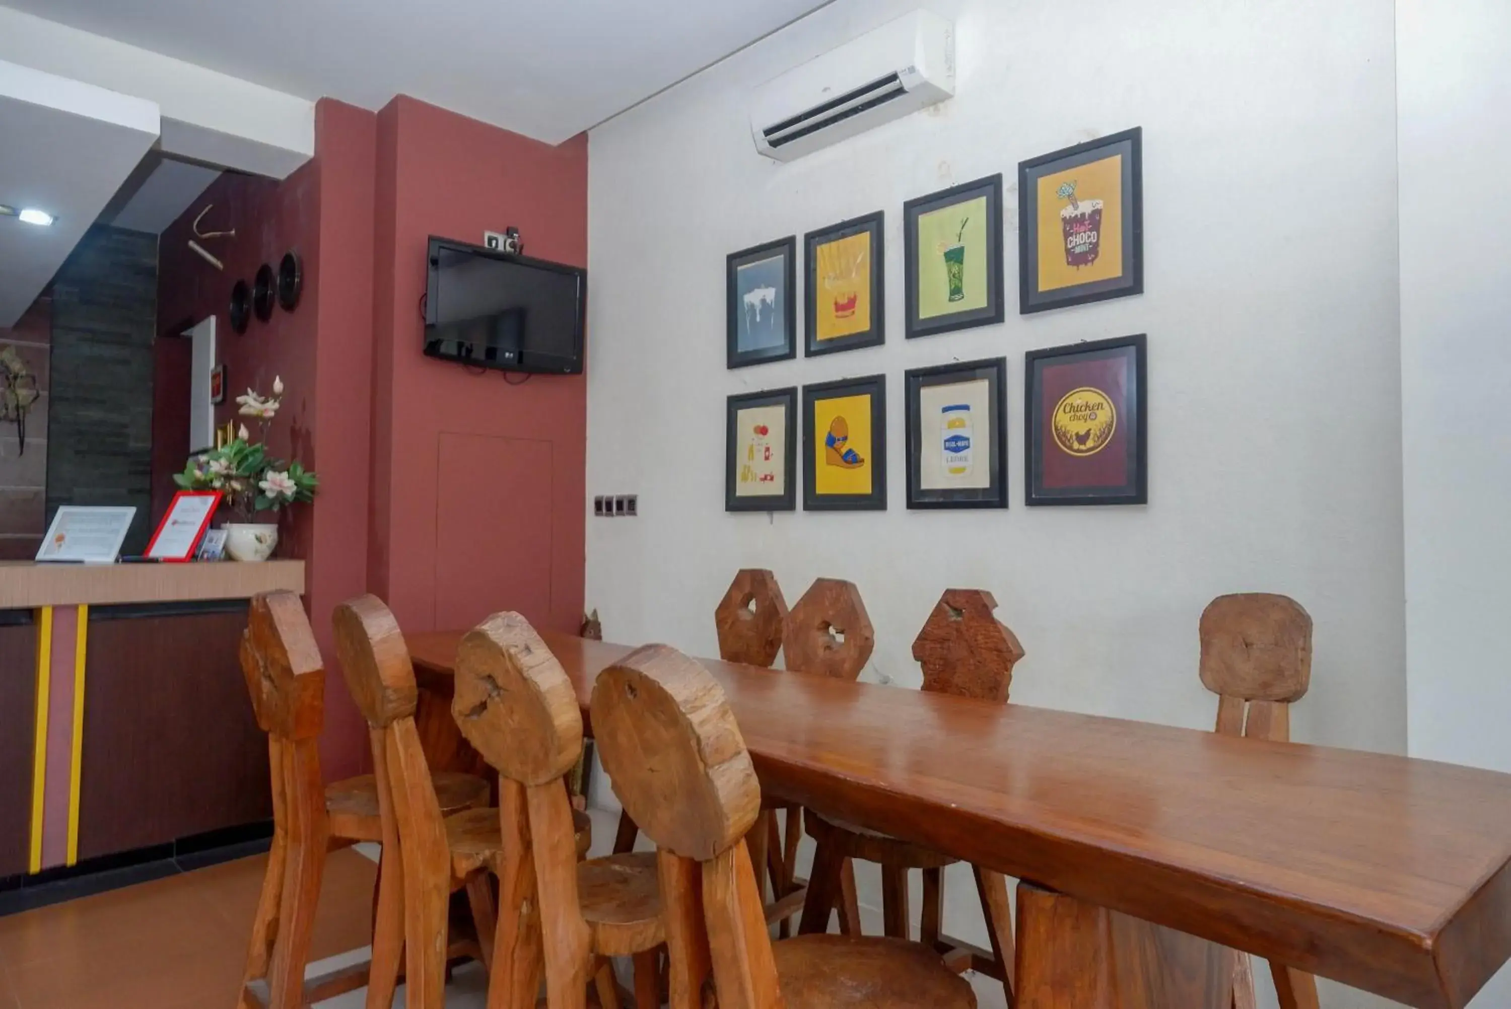
M1052 292L1040 292L1038 180L1112 154L1123 159L1123 273ZM1018 314L1086 305L1144 293L1144 128L1076 143L1018 163Z

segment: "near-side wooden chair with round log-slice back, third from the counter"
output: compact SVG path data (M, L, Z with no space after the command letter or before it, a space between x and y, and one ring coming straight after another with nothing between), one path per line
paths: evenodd
M579 862L564 778L582 752L582 713L567 672L518 613L496 613L462 637L452 714L499 770L503 862L488 1004L533 1009L541 967L550 1009L620 1004L607 958L635 958L638 1009L660 1004L666 941L656 856L620 853ZM503 989L499 989L503 985Z

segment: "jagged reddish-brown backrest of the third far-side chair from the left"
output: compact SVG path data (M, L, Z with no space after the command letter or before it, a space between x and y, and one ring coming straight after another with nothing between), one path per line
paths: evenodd
M1006 704L1023 645L993 616L996 609L985 589L944 591L913 639L925 690Z

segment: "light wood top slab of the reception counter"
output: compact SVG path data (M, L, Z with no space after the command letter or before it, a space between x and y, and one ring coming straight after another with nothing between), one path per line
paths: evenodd
M0 610L243 600L258 592L304 594L304 560L192 563L0 562Z

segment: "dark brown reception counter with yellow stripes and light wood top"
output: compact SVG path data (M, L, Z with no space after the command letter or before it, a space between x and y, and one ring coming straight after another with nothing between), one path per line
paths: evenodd
M272 816L237 660L302 560L0 563L0 879Z

